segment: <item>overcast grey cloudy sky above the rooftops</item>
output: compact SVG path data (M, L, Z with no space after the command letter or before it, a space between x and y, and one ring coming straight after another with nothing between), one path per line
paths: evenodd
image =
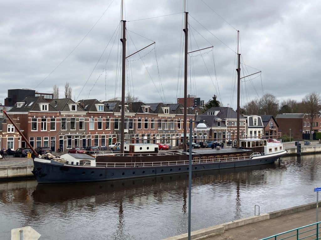
M63 97L66 82L76 100L120 97L120 2L2 0L0 103L7 89L55 84ZM187 1L188 51L214 46L189 55L188 93L235 108L236 29L241 76L262 70L242 83L241 105L262 91L279 100L318 91L320 9L317 0ZM183 96L182 12L183 0L125 0L126 55L156 42L126 61L126 92L146 103Z

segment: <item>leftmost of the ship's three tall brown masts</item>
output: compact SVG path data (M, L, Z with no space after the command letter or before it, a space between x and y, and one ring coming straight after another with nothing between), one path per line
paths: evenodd
M123 22L123 36L120 41L122 49L122 84L121 84L121 120L120 120L120 153L124 153L125 127L125 71L126 71L126 20L123 19L124 0L121 1L121 21Z

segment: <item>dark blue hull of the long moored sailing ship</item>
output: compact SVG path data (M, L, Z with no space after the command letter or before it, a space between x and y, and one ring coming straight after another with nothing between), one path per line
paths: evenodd
M281 155L257 156L252 159L239 160L233 162L211 162L193 163L192 171L218 170L227 168L247 167L261 164L274 163ZM163 174L174 174L188 172L188 164L169 165L154 167L85 167L70 164L62 164L51 160L34 159L34 170L32 171L39 183L54 182L89 182L118 180L148 176L158 176Z

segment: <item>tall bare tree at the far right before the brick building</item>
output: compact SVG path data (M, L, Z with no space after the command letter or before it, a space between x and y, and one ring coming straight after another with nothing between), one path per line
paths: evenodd
M321 109L320 94L311 92L302 99L302 104L307 114L310 115L310 140L312 140L312 123L313 119L317 117Z

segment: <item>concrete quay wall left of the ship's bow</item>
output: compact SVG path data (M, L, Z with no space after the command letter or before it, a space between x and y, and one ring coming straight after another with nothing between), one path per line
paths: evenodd
M8 180L11 178L26 178L32 177L33 165L29 166L15 166L15 167L1 167L0 180Z

